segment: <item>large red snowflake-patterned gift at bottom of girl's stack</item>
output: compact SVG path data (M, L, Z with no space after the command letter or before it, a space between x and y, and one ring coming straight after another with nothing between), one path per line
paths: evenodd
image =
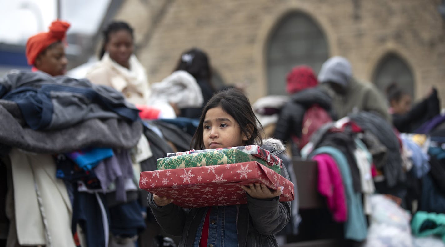
M173 198L181 207L247 204L241 185L259 182L272 190L283 186L280 201L294 199L294 184L258 162L141 172L139 187Z

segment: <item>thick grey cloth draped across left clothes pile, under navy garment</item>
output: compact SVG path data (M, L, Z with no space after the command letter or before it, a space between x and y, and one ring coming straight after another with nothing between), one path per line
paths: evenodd
M25 151L58 154L85 147L129 149L138 144L141 121L89 119L62 130L36 131L24 124L18 105L0 100L0 149L5 146Z

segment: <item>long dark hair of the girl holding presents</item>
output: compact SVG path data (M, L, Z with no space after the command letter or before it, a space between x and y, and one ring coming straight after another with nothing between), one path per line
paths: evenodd
M239 89L227 89L220 91L211 97L202 110L198 128L192 139L192 149L206 149L203 140L204 118L209 109L218 106L220 106L227 114L231 115L238 123L241 133L249 137L246 141L246 145L261 146L263 144L263 127L253 113L251 104L246 95Z

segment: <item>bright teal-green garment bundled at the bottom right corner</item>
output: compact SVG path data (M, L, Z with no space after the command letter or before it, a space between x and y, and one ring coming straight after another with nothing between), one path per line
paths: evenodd
M411 221L411 229L415 236L436 235L445 242L445 214L418 211Z

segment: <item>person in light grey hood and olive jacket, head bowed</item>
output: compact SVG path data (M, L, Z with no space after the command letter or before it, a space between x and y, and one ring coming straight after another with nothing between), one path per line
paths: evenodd
M391 120L383 95L372 83L357 81L346 58L336 56L324 62L318 81L333 91L332 108L337 117L363 110L379 113L387 121Z

